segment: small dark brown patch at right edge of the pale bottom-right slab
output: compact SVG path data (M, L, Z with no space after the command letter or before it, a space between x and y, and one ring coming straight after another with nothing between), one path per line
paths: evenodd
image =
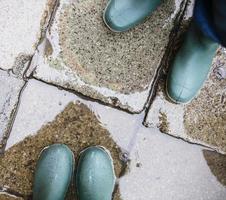
M203 150L203 155L211 172L222 185L226 186L226 155L208 150Z

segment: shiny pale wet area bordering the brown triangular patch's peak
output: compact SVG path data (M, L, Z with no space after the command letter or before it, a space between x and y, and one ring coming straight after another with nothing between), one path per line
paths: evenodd
M68 91L32 79L27 83L21 96L20 106L7 141L6 150L25 137L37 134L37 131L44 124L53 121L70 102L76 101L87 105L97 118L101 119L102 125L111 132L117 144L122 149L127 149L127 144L131 138L129 133L133 132L133 124L138 120L137 117L81 99ZM118 120L115 120L116 116ZM143 115L139 116L140 124L142 119ZM124 124L128 126L125 127ZM119 127L122 132L128 132L128 134L118 134Z

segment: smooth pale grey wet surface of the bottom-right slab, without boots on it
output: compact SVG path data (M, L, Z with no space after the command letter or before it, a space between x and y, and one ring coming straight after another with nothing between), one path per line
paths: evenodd
M220 179L225 177L225 168L219 170L224 158L217 154L208 160L209 165L201 146L154 129L140 129L131 153L130 173L120 180L122 199L224 200L226 187Z

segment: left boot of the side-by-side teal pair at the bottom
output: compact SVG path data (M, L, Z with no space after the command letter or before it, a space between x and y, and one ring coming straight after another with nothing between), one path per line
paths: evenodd
M36 166L33 200L64 200L73 171L74 156L66 145L45 148Z

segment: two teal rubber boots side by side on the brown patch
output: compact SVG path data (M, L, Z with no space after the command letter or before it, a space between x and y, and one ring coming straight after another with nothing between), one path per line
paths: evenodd
M45 148L35 170L33 200L64 200L74 179L74 165L66 145ZM81 152L75 174L78 200L111 200L115 179L111 156L103 147Z

